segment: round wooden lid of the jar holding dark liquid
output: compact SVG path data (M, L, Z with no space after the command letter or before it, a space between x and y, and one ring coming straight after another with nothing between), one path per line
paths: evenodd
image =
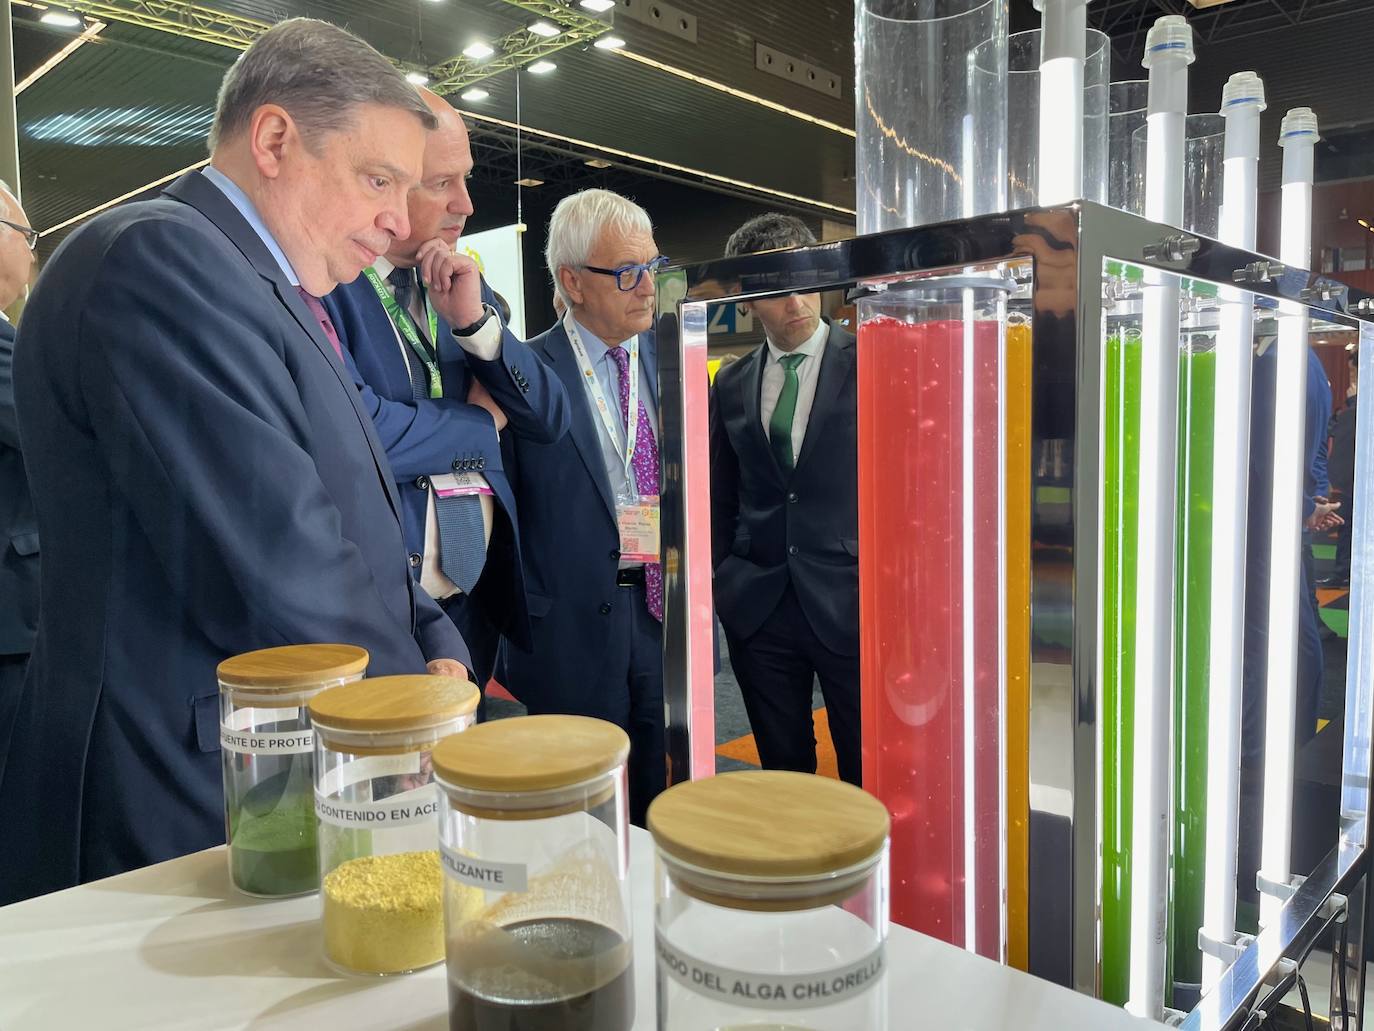
M589 716L517 716L469 727L434 749L434 773L458 788L518 795L583 784L629 755L629 737Z

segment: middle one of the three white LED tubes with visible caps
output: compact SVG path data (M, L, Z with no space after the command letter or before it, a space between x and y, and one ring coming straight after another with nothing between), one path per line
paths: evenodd
M1223 243L1254 250L1264 82L1237 71L1221 91L1226 162L1221 183ZM1250 489L1250 373L1254 302L1221 291L1212 437L1212 639L1208 650L1206 852L1202 932L1235 938L1235 850L1241 810L1241 697L1245 656L1245 542ZM1202 991L1226 969L1202 955Z

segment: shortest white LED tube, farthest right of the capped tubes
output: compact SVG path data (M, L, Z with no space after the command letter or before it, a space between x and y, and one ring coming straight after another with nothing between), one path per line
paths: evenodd
M1312 260L1312 148L1316 117L1298 107L1283 117L1283 209L1279 258L1290 268ZM1270 540L1270 653L1264 698L1264 807L1260 877L1292 880L1293 729L1297 708L1297 606L1301 576L1303 480L1307 456L1307 309L1279 305L1278 368L1274 390L1274 518ZM1260 895L1260 925L1283 899Z

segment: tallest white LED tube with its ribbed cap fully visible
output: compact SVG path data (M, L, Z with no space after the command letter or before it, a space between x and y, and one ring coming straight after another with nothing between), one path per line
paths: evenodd
M1145 217L1183 221L1183 139L1193 29L1165 15L1145 47L1150 70ZM1146 275L1140 356L1140 485L1136 547L1135 784L1131 856L1131 980L1127 1009L1164 1016L1168 928L1173 537L1179 400L1179 286Z

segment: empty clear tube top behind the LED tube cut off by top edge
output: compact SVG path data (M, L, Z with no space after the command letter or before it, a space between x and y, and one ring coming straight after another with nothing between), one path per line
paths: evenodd
M1007 37L1007 206L1035 208L1040 201L1040 29ZM1087 30L1083 63L1083 179L1076 197L1107 201L1107 76L1112 41ZM987 73L995 47L978 48L976 65Z

